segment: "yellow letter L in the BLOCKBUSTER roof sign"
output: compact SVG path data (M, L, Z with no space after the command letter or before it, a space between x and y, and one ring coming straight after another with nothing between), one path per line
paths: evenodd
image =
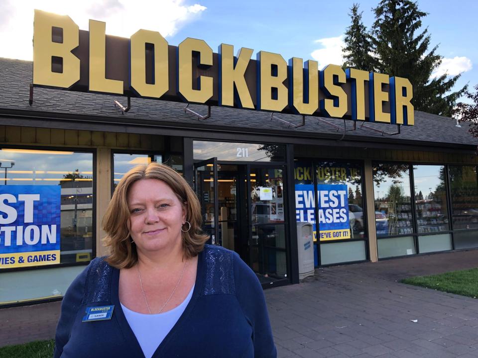
M106 78L106 23L90 20L89 90L123 94L123 82Z

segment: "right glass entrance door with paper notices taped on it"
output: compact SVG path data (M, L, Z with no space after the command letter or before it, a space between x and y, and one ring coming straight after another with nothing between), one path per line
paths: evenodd
M287 278L284 166L247 166L249 266L262 283Z

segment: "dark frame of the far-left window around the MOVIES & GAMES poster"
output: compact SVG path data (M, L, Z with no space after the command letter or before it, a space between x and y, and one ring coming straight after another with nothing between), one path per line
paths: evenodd
M97 246L96 246L96 241L97 241L97 230L96 230L96 224L97 224L97 191L96 191L96 173L97 173L97 150L96 148L84 148L84 147L70 147L70 146L65 146L65 147L59 147L59 146L28 146L28 145L1 145L0 149L30 149L30 150L44 150L44 151L59 151L59 152L64 152L64 151L69 151L69 152L78 152L78 153L90 153L93 155L93 180L92 180L92 185L93 185L93 203L92 203L92 247L91 247L91 260L90 261L83 261L83 262L75 262L75 263L59 263L59 264L50 264L50 265L39 265L39 266L29 266L29 267L22 267L22 268L11 268L11 269L0 269L0 275L2 272L16 272L16 271L31 271L31 270L37 270L37 269L58 269L58 268L64 268L64 267L72 267L72 266L88 266L93 259L96 258L97 254ZM61 242L61 237L60 237L60 242ZM61 252L60 252L61 255ZM61 298L60 298L61 299ZM57 301L59 300L58 298L53 298L51 301ZM50 302L50 300L34 300L31 302ZM28 304L32 304L30 301L28 301ZM1 306L1 308L7 307ZM8 306L10 307L10 306Z

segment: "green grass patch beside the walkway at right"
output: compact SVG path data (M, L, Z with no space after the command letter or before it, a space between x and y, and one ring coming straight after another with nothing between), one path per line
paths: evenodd
M446 272L433 276L410 277L400 282L472 298L478 297L478 268Z

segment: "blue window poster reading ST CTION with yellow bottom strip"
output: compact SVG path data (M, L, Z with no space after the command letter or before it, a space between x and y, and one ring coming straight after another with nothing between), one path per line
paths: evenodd
M60 190L0 186L0 269L60 263Z

